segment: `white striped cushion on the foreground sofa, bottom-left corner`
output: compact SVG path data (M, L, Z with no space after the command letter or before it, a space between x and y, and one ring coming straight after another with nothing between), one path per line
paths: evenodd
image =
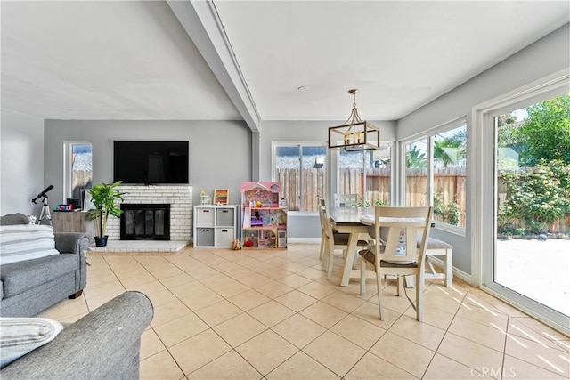
M0 367L55 338L61 323L45 318L0 318Z

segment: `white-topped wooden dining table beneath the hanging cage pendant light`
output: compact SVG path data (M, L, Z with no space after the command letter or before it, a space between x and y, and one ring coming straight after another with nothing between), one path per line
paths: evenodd
M370 223L361 222L366 216L374 220L374 207L330 207L329 217L332 228L340 233L347 233L348 245L346 246L345 263L343 263L340 286L346 287L350 279L360 279L360 269L354 268L354 257L358 240L372 240L368 234ZM369 277L367 273L366 277ZM374 277L371 271L370 277Z

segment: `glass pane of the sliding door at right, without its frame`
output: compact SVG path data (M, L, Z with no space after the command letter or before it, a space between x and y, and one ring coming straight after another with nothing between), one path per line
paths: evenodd
M570 316L570 95L495 117L494 282Z

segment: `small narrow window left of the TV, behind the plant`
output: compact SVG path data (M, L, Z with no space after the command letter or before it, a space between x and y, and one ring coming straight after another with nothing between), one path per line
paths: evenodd
M81 199L93 182L92 147L88 141L65 141L64 196Z

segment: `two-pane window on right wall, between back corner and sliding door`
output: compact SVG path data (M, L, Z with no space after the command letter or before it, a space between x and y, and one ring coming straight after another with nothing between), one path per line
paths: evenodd
M436 133L405 144L406 206L434 206L434 219L465 229L467 125L437 127Z

